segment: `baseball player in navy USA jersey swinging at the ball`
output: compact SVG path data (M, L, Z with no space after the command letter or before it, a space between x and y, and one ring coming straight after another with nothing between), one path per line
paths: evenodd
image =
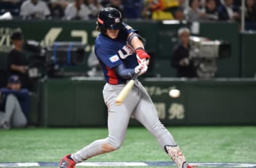
M131 115L154 135L163 150L179 168L191 168L180 147L170 132L159 121L156 108L145 88L136 80L129 94L121 105L115 103L117 95L133 75L147 72L150 56L145 52L143 39L122 21L121 13L107 7L101 10L97 18L100 31L95 39L95 55L105 75L106 85L103 98L108 107L108 132L105 139L66 155L60 159L59 167L73 168L77 163L120 148Z

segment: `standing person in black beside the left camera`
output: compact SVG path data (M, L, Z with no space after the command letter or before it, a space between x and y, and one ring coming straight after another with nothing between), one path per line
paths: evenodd
M14 32L11 40L14 48L9 52L7 58L9 75L18 75L21 79L22 87L30 88L30 81L26 70L28 60L22 51L24 41L22 33L18 31Z

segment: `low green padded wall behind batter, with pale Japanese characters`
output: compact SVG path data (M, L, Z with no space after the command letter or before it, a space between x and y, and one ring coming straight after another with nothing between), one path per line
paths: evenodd
M256 124L256 80L209 81L145 78L142 81L165 125ZM41 82L39 124L44 127L107 125L102 79L49 79ZM178 98L169 96L179 89ZM146 108L145 108L146 109ZM131 119L130 125L141 125Z

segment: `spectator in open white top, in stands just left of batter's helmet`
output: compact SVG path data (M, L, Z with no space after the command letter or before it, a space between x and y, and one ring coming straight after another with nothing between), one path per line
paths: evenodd
M68 4L65 10L65 18L71 19L89 19L90 10L88 6L84 4L84 0L75 0L73 3Z

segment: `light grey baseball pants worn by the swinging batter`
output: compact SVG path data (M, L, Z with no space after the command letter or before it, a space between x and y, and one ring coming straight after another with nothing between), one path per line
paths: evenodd
M115 99L125 85L110 85L106 83L103 89L103 98L108 107L108 132L105 139L92 142L78 152L71 155L76 163L85 161L95 155L111 152L123 144L126 129L131 115L135 117L146 129L154 135L160 146L175 146L176 143L170 132L159 121L156 108L145 88L139 81L120 106Z

